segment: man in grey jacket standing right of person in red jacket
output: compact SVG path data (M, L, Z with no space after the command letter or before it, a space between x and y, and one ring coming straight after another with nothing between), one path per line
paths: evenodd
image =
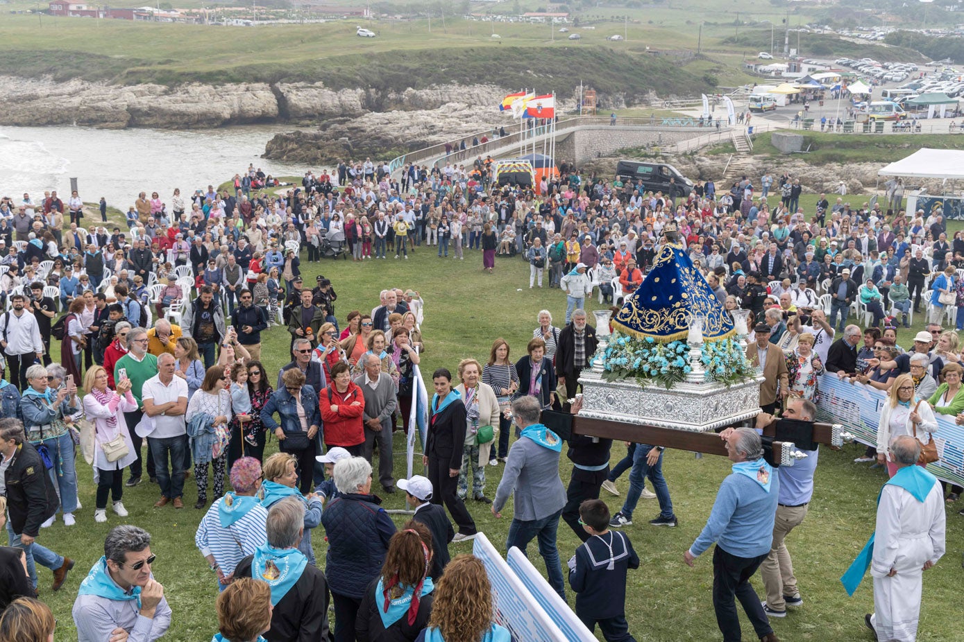
M391 414L398 402L395 384L382 372L382 360L374 354L364 357L364 373L355 379L364 395L364 445L362 457L371 463L375 442L378 442L378 477L386 493L395 492L391 475Z

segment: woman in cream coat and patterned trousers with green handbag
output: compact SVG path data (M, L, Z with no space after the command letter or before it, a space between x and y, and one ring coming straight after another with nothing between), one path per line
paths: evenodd
M485 465L489 461L489 450L495 443L498 432L498 399L495 390L488 383L482 383L482 366L475 359L463 359L459 363L459 378L462 383L455 387L466 406L466 443L462 455L462 470L459 471L459 497L469 499L469 471L472 473L472 499L492 503L485 495ZM479 428L492 426L492 439L485 444L477 443ZM484 428L483 431L488 430Z

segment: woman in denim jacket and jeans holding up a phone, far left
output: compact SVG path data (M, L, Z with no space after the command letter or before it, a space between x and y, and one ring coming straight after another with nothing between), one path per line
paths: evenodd
M73 511L77 509L77 472L74 468L73 437L67 417L80 407L77 385L67 378L58 391L49 384L49 373L40 364L27 369L27 389L20 397L23 427L27 440L43 455L45 449L52 467L48 471L54 485L60 489L60 509L64 512L64 524L73 526ZM54 522L51 517L45 526Z

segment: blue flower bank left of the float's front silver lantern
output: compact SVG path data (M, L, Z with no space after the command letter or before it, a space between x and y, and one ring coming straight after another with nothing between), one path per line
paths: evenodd
M684 341L657 344L652 337L640 339L613 334L603 355L603 379L634 378L641 386L656 383L667 390L693 372L689 346Z

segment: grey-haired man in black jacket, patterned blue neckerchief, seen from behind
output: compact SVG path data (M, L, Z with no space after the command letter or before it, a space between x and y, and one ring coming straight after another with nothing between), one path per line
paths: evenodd
M271 629L265 633L269 640L327 640L328 639L328 581L321 569L305 564L301 575L293 583L284 573L269 576L267 569L277 565L272 562L273 551L294 549L305 533L305 509L300 500L285 498L277 501L268 511L266 529L268 543L258 547L254 555L248 555L234 569L235 578L256 578L271 585L271 602L275 604L271 615ZM284 557L285 560L291 556ZM267 561L265 561L267 560ZM257 561L261 573L253 571ZM291 566L284 567L287 571ZM277 571L277 568L272 568ZM283 581L282 581L283 580ZM353 635L354 639L354 635Z

